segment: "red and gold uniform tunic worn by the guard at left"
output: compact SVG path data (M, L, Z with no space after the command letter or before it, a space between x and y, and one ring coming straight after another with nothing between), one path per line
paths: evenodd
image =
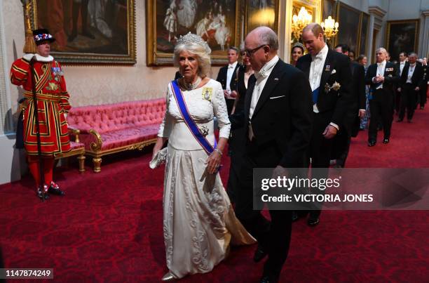
M37 155L36 119L32 93L32 75L29 62L33 54L13 62L11 67L12 84L24 88L27 98L24 112L24 146L28 155ZM62 74L60 63L52 56L42 57L36 54L34 77L36 79L37 107L41 153L43 156L55 156L70 150L67 121L64 114L70 109L69 93Z

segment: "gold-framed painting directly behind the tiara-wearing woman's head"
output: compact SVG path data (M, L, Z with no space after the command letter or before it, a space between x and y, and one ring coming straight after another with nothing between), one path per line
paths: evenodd
M171 65L177 39L198 34L212 49L212 62L227 62L229 46L239 44L236 0L147 1L147 63Z

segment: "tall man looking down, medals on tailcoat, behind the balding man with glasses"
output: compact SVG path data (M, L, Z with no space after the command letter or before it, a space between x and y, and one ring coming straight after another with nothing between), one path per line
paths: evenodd
M297 68L310 81L313 91L313 136L309 151L313 178L327 178L332 145L339 126L346 124L346 113L353 103L350 92L350 59L325 44L323 28L313 22L302 32L308 54L299 58ZM317 190L323 193L324 190ZM322 204L313 205L307 224L318 225Z

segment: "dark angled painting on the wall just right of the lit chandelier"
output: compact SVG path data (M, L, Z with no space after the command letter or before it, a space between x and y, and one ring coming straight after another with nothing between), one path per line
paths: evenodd
M350 50L357 52L359 39L360 11L355 8L339 3L339 32L336 35L335 44L347 44Z

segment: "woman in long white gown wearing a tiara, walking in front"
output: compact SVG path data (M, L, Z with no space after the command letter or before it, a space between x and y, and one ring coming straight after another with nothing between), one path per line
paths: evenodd
M172 93L158 132L154 156L168 139L163 196L163 231L167 267L163 280L210 272L229 251L229 244L253 244L254 238L237 220L218 173L230 122L222 86L207 77L210 47L196 34L177 40L175 63L190 117L214 151L207 156L184 123ZM219 121L215 146L213 118Z

